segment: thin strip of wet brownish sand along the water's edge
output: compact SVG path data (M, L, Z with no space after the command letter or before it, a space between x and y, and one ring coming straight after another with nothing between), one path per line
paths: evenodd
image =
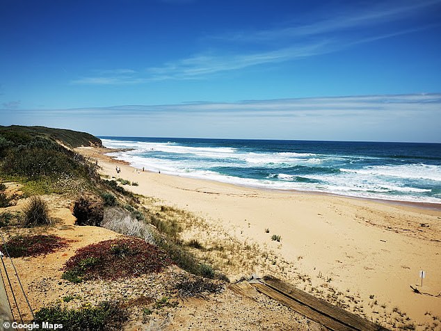
M119 160L117 159L117 156L109 155L108 153L115 153L115 152L125 152L127 150L134 150L133 148L109 148L109 147L100 147L102 148L102 155L107 156L110 159L113 159L117 163L122 163L125 165L129 165L131 168L138 169L141 171L141 168L136 168L131 163L125 160ZM108 152L106 152L108 150ZM156 173L152 170L145 170L144 172L149 173ZM310 194L310 195L325 195L330 197L342 197L347 199L355 199L355 200L366 200L370 202L378 202L378 203L384 203L384 204L391 204L391 205L399 205L402 207L410 207L410 208L416 208L416 209L428 209L428 210L434 210L434 211L441 211L441 203L435 203L435 202L414 202L414 201L406 201L406 200L392 200L392 199L381 199L376 197L360 197L355 195L342 195L338 193L330 193L330 192L324 192L324 191L301 191L296 189L280 189L280 188L264 188L259 186L252 186L252 185L246 185L246 184L232 184L225 181L216 181L215 179L205 179L205 178L196 178L196 177L190 177L190 176L184 176L184 175L173 175L168 173L161 172L161 175L171 176L171 177L179 177L179 178L187 178L187 179L195 179L200 181L209 181L212 183L218 183L218 184L225 184L225 185L231 185L236 186L238 188L250 188L253 190L258 191L268 191L268 192L278 192L278 193L285 193L285 194Z

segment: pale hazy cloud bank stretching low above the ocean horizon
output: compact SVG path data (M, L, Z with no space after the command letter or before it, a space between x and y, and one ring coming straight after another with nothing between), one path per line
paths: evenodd
M101 136L439 142L441 93L234 103L1 109L2 125L65 127Z

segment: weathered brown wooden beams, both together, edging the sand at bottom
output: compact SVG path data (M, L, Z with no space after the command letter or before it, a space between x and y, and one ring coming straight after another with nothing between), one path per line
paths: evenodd
M330 330L335 331L387 331L380 325L372 323L346 310L331 305L309 293L300 291L291 284L287 284L271 276L262 280L250 282L260 293L278 300L296 312L311 318Z

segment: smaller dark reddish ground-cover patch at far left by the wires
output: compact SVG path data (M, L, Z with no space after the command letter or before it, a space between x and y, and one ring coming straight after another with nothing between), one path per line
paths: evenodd
M35 257L47 255L58 249L65 248L67 241L53 234L35 236L15 236L6 242L11 257Z

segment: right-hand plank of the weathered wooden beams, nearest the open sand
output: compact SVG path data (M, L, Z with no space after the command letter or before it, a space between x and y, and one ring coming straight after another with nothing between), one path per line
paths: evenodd
M350 312L346 312L346 310L337 307L335 305L326 302L320 298L316 298L312 296L310 293L306 293L305 291L301 291L296 289L296 287L288 284L286 282L282 282L275 277L265 276L262 280L266 286L271 287L275 291L278 291L285 296L288 296L292 300L296 300L300 302L302 305L306 305L311 309L319 312L320 314L329 316L332 319L339 321L345 325L350 326L353 330L363 330L363 331L384 331L387 330L380 325L372 323L367 319L364 319L360 316L352 314Z

